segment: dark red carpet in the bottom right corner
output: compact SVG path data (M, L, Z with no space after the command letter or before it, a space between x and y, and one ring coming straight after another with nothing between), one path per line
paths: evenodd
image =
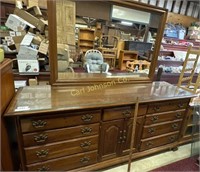
M170 172L170 171L200 171L199 164L197 161L197 156L186 158L177 162L174 162L172 164L157 168L152 170L151 172Z

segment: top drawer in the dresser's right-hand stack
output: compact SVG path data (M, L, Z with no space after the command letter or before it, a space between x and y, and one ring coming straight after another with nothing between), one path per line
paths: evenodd
M181 110L187 108L189 100L166 101L150 104L147 113L159 113L165 111Z

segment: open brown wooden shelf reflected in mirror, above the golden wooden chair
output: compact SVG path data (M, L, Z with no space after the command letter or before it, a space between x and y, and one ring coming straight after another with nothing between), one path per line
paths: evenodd
M120 50L119 54L119 69L126 70L126 62L138 59L137 51Z

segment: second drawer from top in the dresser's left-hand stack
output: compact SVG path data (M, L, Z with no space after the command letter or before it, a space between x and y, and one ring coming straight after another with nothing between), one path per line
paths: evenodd
M23 134L24 146L35 146L99 134L99 123Z

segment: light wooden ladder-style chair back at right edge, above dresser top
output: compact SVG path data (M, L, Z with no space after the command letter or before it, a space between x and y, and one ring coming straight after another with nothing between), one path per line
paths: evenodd
M183 68L178 81L179 87L193 93L196 93L197 89L200 87L200 73L198 74L196 82L193 83L193 77L195 74L195 70L197 68L199 56L200 56L200 47L198 49L194 49L192 48L192 46L188 48ZM188 67L189 62L191 63L190 64L191 67ZM187 75L189 74L189 76L185 76L186 72Z

